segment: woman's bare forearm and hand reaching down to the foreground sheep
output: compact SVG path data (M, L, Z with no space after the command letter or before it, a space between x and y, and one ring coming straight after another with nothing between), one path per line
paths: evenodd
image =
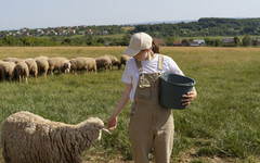
M132 84L126 84L125 90L121 95L121 98L120 98L116 109L114 110L113 114L110 115L110 117L107 121L107 128L109 130L113 130L117 127L117 116L120 114L121 110L127 104L131 89L132 89Z

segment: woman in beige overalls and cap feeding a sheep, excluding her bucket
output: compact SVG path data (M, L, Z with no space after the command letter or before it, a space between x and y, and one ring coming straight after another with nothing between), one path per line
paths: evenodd
M123 53L133 57L128 60L122 82L125 90L108 118L107 126L113 130L117 117L127 104L132 101L129 123L129 136L133 160L147 163L151 148L154 148L156 163L169 163L173 145L173 117L170 109L159 104L158 82L162 73L184 75L176 62L166 55L158 54L159 47L145 33L136 33ZM183 95L183 104L188 105L197 96L195 89Z

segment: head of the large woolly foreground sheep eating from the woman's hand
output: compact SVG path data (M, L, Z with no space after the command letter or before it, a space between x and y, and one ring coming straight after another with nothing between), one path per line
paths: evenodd
M109 133L104 126L104 123L99 117L90 117L79 124L83 135L87 135L92 141L101 140L102 130ZM110 133L109 133L110 134Z

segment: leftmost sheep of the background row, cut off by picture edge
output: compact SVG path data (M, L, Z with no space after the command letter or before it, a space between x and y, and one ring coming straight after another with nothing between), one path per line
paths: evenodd
M5 80L6 77L9 77L9 80L11 82L14 77L14 62L0 62L0 73L2 80Z

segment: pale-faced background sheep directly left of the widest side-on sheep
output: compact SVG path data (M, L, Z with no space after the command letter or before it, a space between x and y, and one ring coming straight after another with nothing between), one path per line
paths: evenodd
M58 73L69 73L70 63L69 60L66 58L51 58L48 59L49 62L49 72L53 75L53 72L55 70L58 71Z

